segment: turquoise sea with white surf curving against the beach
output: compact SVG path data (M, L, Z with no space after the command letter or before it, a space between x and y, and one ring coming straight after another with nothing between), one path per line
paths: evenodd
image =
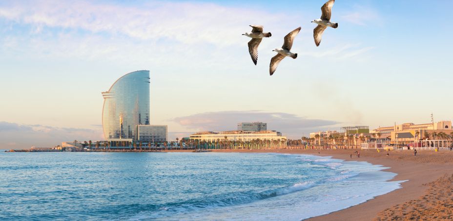
M366 162L272 153L0 153L0 220L301 220L400 188Z

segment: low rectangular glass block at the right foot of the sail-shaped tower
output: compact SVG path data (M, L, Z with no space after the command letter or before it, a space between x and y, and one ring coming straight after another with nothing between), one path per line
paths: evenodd
M168 128L166 125L137 125L136 141L143 143L163 143L168 139Z

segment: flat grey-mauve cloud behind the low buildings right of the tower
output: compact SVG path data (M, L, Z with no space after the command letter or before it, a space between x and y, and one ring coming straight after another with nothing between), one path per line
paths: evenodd
M218 111L198 113L173 119L189 129L223 131L237 129L239 122L266 122L269 130L281 131L290 138L300 138L302 133L338 124L332 120L307 119L291 113L265 111Z

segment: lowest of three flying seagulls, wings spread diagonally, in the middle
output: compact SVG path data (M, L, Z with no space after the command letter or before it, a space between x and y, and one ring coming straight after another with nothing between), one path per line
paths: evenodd
M296 59L297 53L291 53L289 50L291 50L292 47L292 42L294 41L294 37L296 37L297 34L299 34L301 27L298 27L294 29L292 32L288 33L288 35L285 36L285 41L283 42L283 46L281 48L276 48L272 50L273 52L277 52L278 54L272 57L270 59L270 65L269 65L269 74L272 75L274 74L275 70L277 70L277 66L280 63L280 61L283 60L286 56L292 57L293 59Z

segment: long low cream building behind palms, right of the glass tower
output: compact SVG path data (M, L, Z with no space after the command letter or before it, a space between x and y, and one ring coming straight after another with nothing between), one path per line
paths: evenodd
M190 139L194 141L206 141L206 142L215 142L215 141L252 141L256 139L260 140L287 140L286 136L282 136L281 132L275 130L265 130L259 132L252 131L242 131L242 130L233 130L233 131L222 131L222 132L212 132L204 131L194 134L190 134Z

